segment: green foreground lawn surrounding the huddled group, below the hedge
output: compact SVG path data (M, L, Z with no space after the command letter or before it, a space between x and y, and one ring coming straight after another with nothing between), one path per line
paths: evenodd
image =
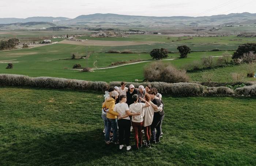
M104 144L102 101L0 87L0 165L256 165L256 98L163 96L161 143L129 152Z

